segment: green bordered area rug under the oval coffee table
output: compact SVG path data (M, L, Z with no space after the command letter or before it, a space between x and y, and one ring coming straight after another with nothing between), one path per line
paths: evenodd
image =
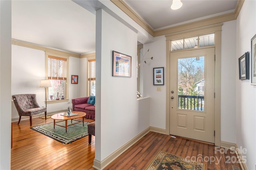
M73 119L72 123L74 123L74 121L80 121L80 120ZM65 121L61 121L56 124L65 126ZM68 120L68 125L70 124L71 124L71 120ZM58 125L55 125L55 129L54 129L53 122L46 123L44 125L35 126L35 127L30 127L30 128L52 139L55 139L58 142L67 144L67 143L72 143L83 137L86 137L88 135L88 128L87 128L88 124L89 122L85 121L84 126L83 126L83 123L77 123L75 125L68 126L67 132L65 127L60 127Z

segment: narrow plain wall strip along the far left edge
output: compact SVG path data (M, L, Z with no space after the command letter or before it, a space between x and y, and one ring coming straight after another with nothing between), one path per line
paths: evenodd
M11 166L11 1L0 1L0 169Z

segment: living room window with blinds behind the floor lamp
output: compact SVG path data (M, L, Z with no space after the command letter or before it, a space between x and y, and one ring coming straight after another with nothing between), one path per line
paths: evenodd
M48 88L48 100L66 98L67 59L48 56L48 79L52 87Z

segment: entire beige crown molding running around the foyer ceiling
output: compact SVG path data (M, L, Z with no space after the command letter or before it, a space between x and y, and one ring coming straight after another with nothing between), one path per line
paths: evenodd
M204 20L194 21L182 25L177 25L174 27L169 27L165 29L160 29L157 31L154 31L132 8L130 8L123 0L110 0L113 4L115 4L120 10L122 10L125 14L127 14L132 20L134 20L136 23L138 23L143 29L145 29L150 35L153 37L158 37L161 35L167 35L171 33L176 33L179 31L185 31L188 29L194 29L198 27L204 27L207 25L212 25L216 23L222 23L226 21L232 21L236 20L238 17L238 14L243 6L244 0L238 0L236 4L236 9L234 12L223 14L220 16L215 16L212 18L207 18Z

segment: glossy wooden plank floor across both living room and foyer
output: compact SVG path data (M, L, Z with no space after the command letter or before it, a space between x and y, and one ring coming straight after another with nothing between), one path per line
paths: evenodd
M94 120L86 119L92 122ZM52 122L52 119L33 118L32 126ZM95 170L92 168L95 138L88 144L88 136L72 144L63 145L45 135L30 129L30 122L22 120L13 123L13 148L11 150L12 170ZM104 170L145 170L160 150L178 156L198 159L205 164L205 170L232 170L232 163L226 163L235 154L214 151L214 145L184 138L149 132L135 145L126 150ZM194 156L194 157L193 157ZM201 158L201 159L200 159ZM209 159L215 162L211 162ZM217 158L220 163L217 164ZM234 163L233 165L239 166ZM241 169L241 168L240 168Z

